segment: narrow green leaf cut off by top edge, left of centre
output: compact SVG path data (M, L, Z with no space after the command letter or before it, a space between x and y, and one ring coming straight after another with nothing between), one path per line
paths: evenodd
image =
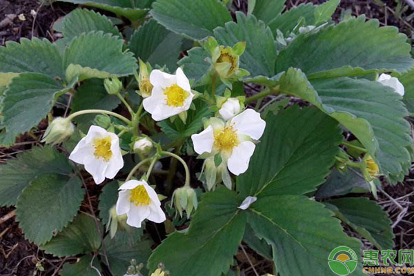
M137 21L144 17L151 3L154 0L59 0L62 2L69 2L75 4L81 4L85 6L90 6L94 8L100 8L102 10L108 10L113 12L121 17L126 17L130 21Z

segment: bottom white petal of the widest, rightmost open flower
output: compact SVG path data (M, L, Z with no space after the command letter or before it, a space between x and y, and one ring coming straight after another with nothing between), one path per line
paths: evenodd
M230 158L227 161L227 167L234 175L239 175L246 172L248 168L248 162L255 151L255 144L250 141L244 141L237 147L233 148Z

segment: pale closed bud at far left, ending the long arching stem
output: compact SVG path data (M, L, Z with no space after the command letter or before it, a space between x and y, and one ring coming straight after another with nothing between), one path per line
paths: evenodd
M50 123L48 128L46 128L46 132L41 141L46 142L46 144L59 144L68 139L74 131L75 126L72 124L72 121L66 118L57 117Z

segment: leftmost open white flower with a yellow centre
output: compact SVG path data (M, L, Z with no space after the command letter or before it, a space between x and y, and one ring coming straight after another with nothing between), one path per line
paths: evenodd
M91 126L86 137L83 137L69 159L85 166L96 184L105 177L114 178L124 166L119 139L117 135L99 126Z

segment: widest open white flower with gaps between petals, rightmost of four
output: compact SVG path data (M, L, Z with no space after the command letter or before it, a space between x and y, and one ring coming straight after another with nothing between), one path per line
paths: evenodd
M255 144L251 140L262 137L266 127L260 113L246 109L227 123L218 118L210 118L206 124L208 126L205 130L191 135L195 152L199 155L205 152L211 155L220 153L230 172L235 175L245 172L255 150Z

